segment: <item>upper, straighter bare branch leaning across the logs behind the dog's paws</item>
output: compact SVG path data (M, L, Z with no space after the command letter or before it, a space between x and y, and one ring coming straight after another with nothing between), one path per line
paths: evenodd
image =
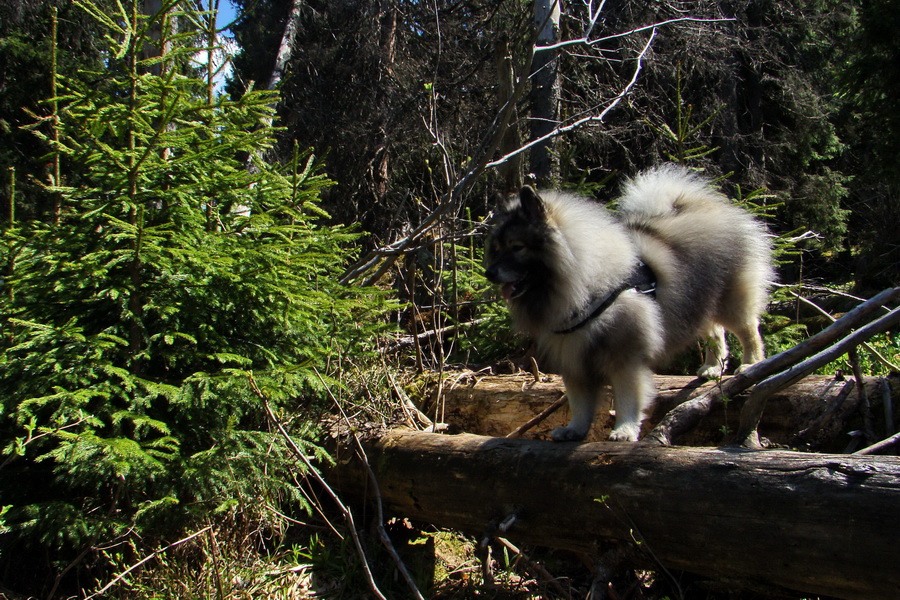
M693 429L723 398L733 398L763 379L820 352L860 324L868 322L871 315L882 306L896 302L898 299L900 299L900 287L887 289L871 300L860 304L804 342L748 367L708 393L677 406L669 411L659 425L645 436L643 442L656 446L672 445L678 437Z

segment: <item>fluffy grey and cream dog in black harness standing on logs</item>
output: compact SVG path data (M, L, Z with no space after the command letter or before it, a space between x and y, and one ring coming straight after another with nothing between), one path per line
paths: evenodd
M542 364L563 377L571 421L552 432L557 441L584 439L607 384L610 439L637 440L653 369L698 337L708 340L700 377L722 374L726 329L743 348L740 368L764 357L759 316L774 281L766 229L682 167L630 180L617 213L522 188L498 211L486 276Z

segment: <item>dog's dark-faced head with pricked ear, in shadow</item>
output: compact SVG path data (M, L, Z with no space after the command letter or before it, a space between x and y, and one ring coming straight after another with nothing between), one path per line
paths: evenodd
M547 206L529 186L499 209L485 253L485 276L507 302L533 295L550 278Z

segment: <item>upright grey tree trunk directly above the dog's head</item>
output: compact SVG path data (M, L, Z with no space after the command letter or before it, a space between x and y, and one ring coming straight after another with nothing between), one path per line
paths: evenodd
M535 0L534 26L536 48L559 42L559 3L561 0ZM546 136L559 125L559 52L536 50L531 75L531 137ZM531 150L531 173L539 185L548 185L554 174L552 140Z

